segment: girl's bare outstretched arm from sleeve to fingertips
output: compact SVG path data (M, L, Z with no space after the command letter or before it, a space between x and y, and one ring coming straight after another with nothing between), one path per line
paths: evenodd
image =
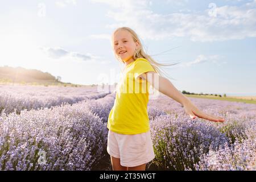
M199 110L195 105L192 104L192 102L187 97L180 93L180 91L177 90L167 78L164 78L156 74L157 73L155 72L147 72L145 74L140 75L139 77L150 82L152 87L159 90L159 92L165 94L168 97L171 97L172 99L183 105L185 112L191 117L191 119L199 117L214 122L225 121L223 118L209 115ZM155 79L155 77L158 78ZM158 83L156 83L156 81L158 81Z

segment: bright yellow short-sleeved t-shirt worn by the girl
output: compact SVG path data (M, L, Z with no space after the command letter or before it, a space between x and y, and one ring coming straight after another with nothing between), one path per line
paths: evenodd
M108 118L108 129L119 134L140 134L150 130L147 114L150 83L137 78L145 72L155 72L144 58L128 64L118 83L114 106Z

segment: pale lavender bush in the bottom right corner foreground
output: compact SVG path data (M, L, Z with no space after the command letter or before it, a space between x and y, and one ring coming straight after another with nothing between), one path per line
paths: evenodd
M256 170L256 118L245 118L233 117L233 122L218 126L229 137L229 145L201 156L197 170Z

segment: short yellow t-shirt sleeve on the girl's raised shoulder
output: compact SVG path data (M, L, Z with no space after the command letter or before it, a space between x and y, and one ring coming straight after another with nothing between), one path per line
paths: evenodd
M145 59L145 60L137 60L134 64L134 76L137 80L137 77L142 73L146 72L156 72L152 65Z

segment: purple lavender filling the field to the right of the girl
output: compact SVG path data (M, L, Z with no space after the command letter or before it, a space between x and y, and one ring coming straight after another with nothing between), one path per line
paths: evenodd
M152 165L170 170L255 170L256 105L191 98L224 123L192 121L177 102L161 96L149 103Z

